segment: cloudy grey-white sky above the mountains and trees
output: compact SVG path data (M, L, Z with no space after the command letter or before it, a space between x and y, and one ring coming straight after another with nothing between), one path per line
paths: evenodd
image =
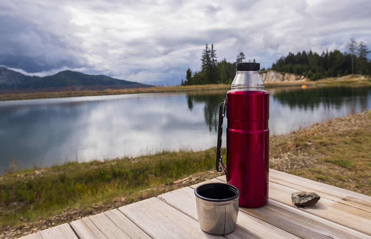
M177 85L218 60L272 66L289 52L371 49L370 0L0 0L0 66L30 76L62 70ZM368 54L371 59L371 53Z

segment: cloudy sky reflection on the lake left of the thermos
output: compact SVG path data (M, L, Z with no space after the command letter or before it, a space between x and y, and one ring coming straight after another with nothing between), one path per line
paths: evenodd
M79 98L79 99L77 99ZM0 102L0 169L212 147L203 104L182 94Z

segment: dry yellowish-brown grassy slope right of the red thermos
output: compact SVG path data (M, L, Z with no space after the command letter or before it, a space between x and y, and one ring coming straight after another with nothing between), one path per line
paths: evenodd
M273 137L271 158L288 155L272 168L371 196L371 111ZM275 149L276 148L276 149ZM298 166L304 160L309 165ZM287 167L284 165L296 165Z

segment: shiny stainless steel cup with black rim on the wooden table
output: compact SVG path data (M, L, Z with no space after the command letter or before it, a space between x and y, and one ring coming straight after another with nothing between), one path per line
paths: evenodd
M207 233L222 235L237 225L240 190L226 183L206 183L194 189L198 222Z

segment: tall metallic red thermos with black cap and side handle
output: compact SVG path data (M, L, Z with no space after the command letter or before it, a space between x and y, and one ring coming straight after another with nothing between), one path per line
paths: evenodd
M269 93L259 63L237 63L236 77L219 108L216 169L240 189L239 206L259 208L269 192ZM220 156L223 117L227 115L226 166Z

